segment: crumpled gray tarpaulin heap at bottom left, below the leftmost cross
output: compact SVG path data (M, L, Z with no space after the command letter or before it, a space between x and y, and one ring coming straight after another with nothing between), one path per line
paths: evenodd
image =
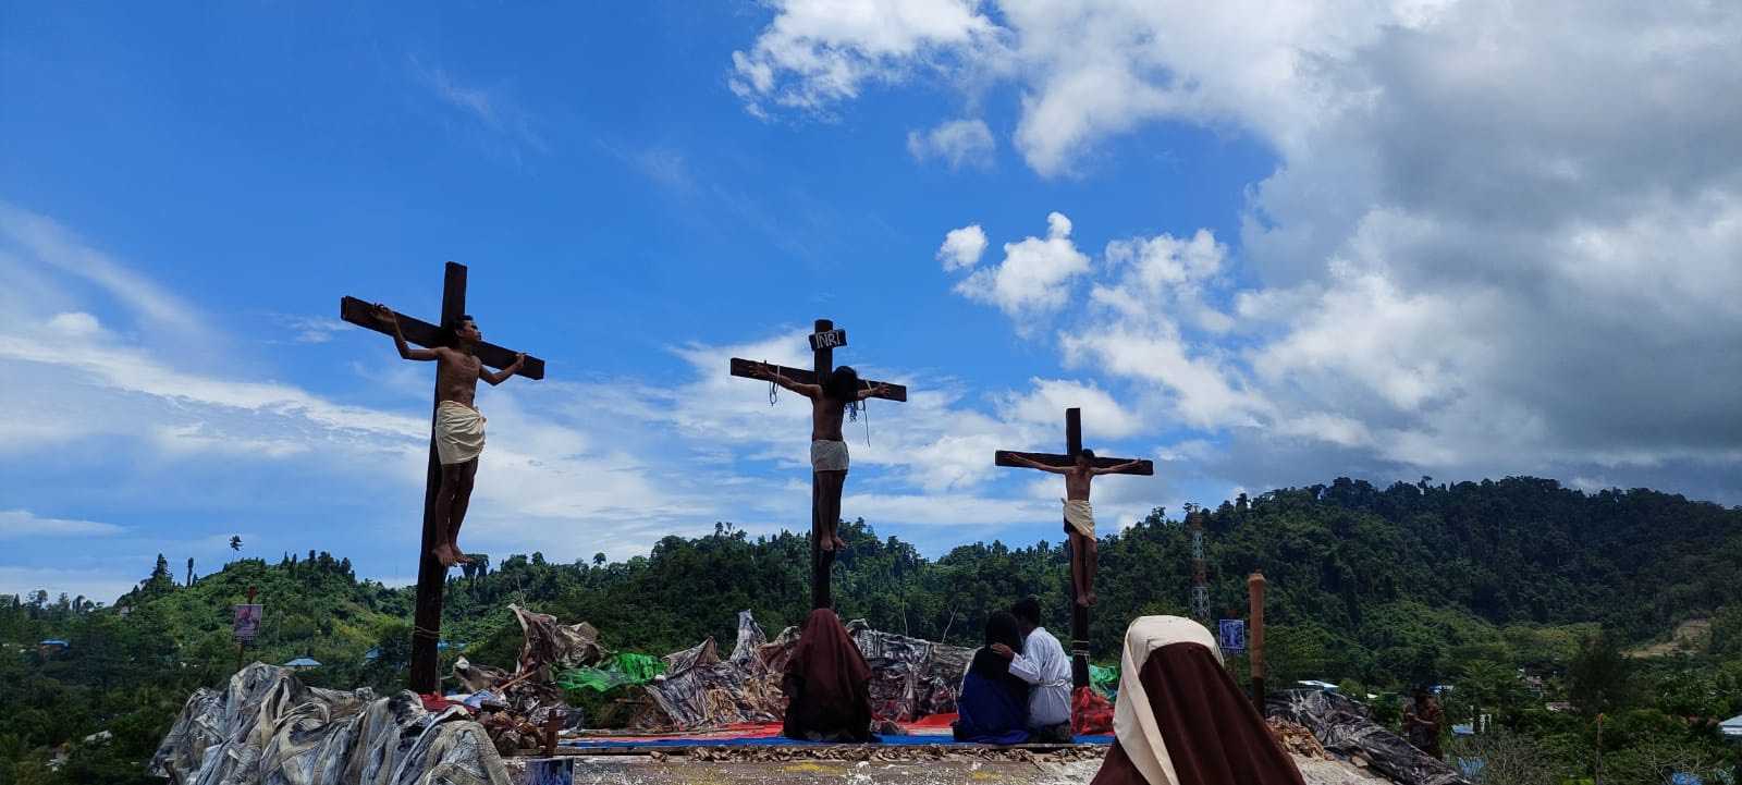
M152 773L178 785L509 785L484 728L460 717L425 712L411 691L307 688L254 663L188 698Z

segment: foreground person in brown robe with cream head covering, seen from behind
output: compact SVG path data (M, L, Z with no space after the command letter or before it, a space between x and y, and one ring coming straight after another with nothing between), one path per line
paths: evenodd
M1090 785L1305 785L1221 667L1216 637L1186 618L1125 630L1113 738Z

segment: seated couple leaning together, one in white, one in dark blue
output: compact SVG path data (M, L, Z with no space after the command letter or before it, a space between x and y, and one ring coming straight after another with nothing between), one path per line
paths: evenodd
M986 646L962 679L956 712L956 741L1071 741L1071 660L1040 627L1040 600L986 620Z

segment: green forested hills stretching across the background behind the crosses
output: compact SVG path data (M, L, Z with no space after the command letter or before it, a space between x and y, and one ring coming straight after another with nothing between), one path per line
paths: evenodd
M1690 618L1712 620L1707 651L1697 656L1735 663L1723 667L1742 674L1742 508L1655 491L1585 494L1540 479L1385 489L1340 479L1193 513L1207 531L1218 616L1246 614L1247 573L1263 569L1270 581L1275 681L1395 688L1517 667L1554 672L1599 627L1646 642ZM1155 510L1103 538L1097 660L1117 660L1131 618L1186 613L1185 517ZM843 616L977 644L988 611L1036 594L1050 627L1066 628L1059 543L976 543L923 559L864 522L843 526ZM591 621L613 649L665 653L704 635L732 641L739 609L754 611L772 632L807 609L807 552L798 534L751 538L718 524L711 536L671 536L627 562L502 559L449 581L444 658L463 653L512 667L519 630L505 611L510 602ZM275 564L239 559L188 587L171 574L172 559L160 557L152 576L110 607L40 594L0 597L0 642L21 651L0 658L0 679L17 698L0 719L0 761L98 729L113 729L115 743L134 755L155 745L195 686L235 668L230 606L251 585L267 613L249 660L314 656L324 663L305 674L315 684L402 684L409 588L357 581L345 559L314 552ZM35 642L51 637L70 641L70 651L40 654ZM111 775L105 771L105 782L122 782Z

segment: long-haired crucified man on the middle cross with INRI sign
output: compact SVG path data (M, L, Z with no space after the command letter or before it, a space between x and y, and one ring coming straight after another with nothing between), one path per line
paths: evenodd
M873 395L888 393L888 385L861 388L859 372L852 366L836 367L820 385L787 379L777 366L756 367L758 379L768 379L810 399L810 501L815 519L810 536L824 554L845 548L838 533L841 526L841 487L847 486L847 439L841 437L841 419L847 406Z

